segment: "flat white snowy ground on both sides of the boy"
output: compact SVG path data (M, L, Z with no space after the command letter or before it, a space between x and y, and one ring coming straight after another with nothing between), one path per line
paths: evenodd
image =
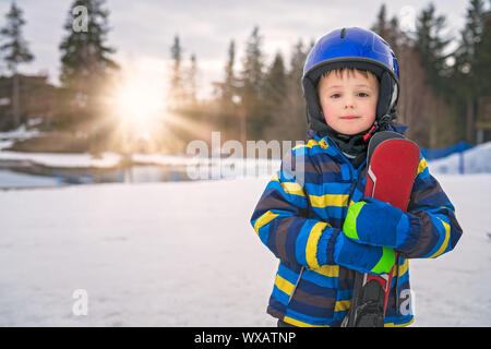
M491 174L439 180L464 236L411 261L415 325L491 326ZM266 181L0 192L0 325L274 326L277 262L249 225Z

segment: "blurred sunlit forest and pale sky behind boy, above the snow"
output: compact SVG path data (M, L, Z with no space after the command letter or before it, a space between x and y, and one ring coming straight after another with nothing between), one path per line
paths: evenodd
M183 154L211 130L303 140L306 55L355 25L398 57L410 139L491 139L489 1L4 0L0 13L0 130L43 133L11 151Z

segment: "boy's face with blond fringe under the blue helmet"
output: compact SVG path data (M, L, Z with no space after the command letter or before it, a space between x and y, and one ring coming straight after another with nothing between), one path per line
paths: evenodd
M343 134L368 130L375 121L379 82L372 74L368 79L358 71L343 70L322 76L319 99L325 122Z

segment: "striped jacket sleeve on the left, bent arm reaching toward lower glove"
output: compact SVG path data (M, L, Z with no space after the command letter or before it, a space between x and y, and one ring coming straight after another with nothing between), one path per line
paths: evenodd
M251 225L278 258L311 268L333 265L334 242L339 229L309 218L309 200L302 180L295 173L296 157L288 153L280 170L267 183Z

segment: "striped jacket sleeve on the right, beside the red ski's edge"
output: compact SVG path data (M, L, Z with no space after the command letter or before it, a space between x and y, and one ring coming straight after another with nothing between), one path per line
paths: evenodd
M403 255L434 258L457 244L463 233L455 208L421 157L407 209L410 237Z

